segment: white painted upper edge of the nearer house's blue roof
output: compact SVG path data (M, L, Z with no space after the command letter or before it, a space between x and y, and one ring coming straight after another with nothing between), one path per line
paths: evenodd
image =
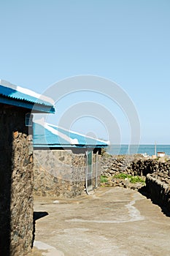
M10 89L14 89L16 91L20 91L23 94L27 94L29 96L35 97L36 99L42 99L45 102L49 102L51 105L55 105L54 100L51 99L50 97L47 97L43 94L37 94L35 91L31 91L30 89L26 89L26 88L23 88L23 87L20 87L20 86L15 86L14 84L9 83L6 80L0 79L0 85L5 86L5 87L10 88Z

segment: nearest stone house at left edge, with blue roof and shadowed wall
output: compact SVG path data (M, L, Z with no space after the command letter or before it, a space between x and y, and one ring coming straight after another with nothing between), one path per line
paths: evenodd
M0 80L0 255L22 256L33 240L32 113L53 102Z

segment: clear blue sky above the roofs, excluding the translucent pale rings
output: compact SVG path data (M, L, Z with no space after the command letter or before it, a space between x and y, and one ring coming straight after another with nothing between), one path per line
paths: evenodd
M0 0L0 10L1 79L43 93L75 75L107 78L134 102L141 143L170 144L169 0ZM98 94L68 95L57 102L52 121L92 96L112 112L121 143L128 143L125 113ZM106 138L107 128L89 118L72 129Z

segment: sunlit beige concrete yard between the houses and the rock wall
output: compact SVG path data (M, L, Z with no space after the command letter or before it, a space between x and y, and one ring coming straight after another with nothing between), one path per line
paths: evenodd
M169 256L170 218L131 189L103 187L72 200L35 197L30 256Z

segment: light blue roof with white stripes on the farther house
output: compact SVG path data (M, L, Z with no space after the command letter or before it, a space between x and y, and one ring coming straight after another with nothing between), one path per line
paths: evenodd
M33 132L34 148L104 148L108 146L107 141L37 121L33 124Z

